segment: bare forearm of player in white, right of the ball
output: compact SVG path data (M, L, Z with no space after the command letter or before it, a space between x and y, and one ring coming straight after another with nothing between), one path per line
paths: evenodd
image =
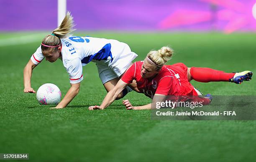
M75 84L70 83L70 85L71 87L69 88L63 100L61 100L61 102L59 102L59 104L54 108L56 109L64 108L67 105L69 105L69 102L71 102L74 99L74 97L76 97L80 89L80 82Z

